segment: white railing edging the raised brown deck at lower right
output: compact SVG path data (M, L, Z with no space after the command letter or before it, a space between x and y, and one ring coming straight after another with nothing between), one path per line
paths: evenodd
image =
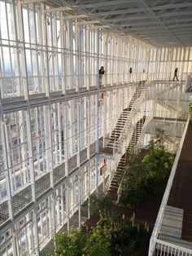
M185 139L185 135L186 135L186 131L187 131L189 122L190 122L190 117L188 117L188 120L186 121L185 130L183 132L181 142L180 142L179 148L177 150L177 156L176 156L175 161L173 163L172 171L171 171L171 174L170 174L169 179L168 179L168 184L167 184L167 187L166 187L165 192L164 192L164 197L163 197L163 200L161 202L161 205L160 205L160 208L159 208L159 213L158 213L156 221L155 221L155 226L154 226L154 229L153 229L153 232L152 232L152 235L151 235L151 240L150 240L150 248L149 248L149 254L148 254L149 256L152 256L152 255L155 254L155 249L158 249L157 245L165 245L164 241L161 241L161 240L158 239L159 230L160 230L161 223L162 223L162 220L163 220L163 217L164 217L164 210L165 210L165 207L168 203L168 196L169 196L169 193L170 193L171 188L172 188L172 182L173 182L173 179L175 177L176 170L177 170L177 164L178 164L178 161L179 161L179 158L180 158L180 155L181 155L181 149L183 147L183 143L184 143L184 139ZM187 253L188 253L188 249L185 249L185 251L184 251L183 248L181 248L180 246L172 245L171 243L167 243L167 246L169 246L172 249L177 249L177 248L181 249L181 251L185 252L184 255L187 255ZM191 253L191 251L190 251L190 253ZM173 255L182 255L182 254L173 254Z

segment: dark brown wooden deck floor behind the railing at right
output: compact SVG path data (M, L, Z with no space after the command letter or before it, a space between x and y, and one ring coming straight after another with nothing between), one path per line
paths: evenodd
M185 135L168 205L184 210L181 238L192 242L192 121Z

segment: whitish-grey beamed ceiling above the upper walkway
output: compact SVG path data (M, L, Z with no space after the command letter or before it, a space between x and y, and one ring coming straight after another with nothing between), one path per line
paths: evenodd
M99 20L118 33L153 46L192 46L192 0L58 0L71 14ZM61 9L62 10L62 9ZM75 12L74 12L75 11ZM107 28L107 25L110 27Z

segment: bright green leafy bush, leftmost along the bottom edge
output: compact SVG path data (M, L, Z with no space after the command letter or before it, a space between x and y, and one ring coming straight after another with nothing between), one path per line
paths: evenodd
M61 232L56 238L56 255L81 256L85 247L86 237L81 231Z

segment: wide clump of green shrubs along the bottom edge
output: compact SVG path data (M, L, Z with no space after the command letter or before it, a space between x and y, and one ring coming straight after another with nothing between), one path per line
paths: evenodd
M56 255L116 256L138 255L150 239L145 227L122 218L101 218L88 234L60 233L56 236Z

